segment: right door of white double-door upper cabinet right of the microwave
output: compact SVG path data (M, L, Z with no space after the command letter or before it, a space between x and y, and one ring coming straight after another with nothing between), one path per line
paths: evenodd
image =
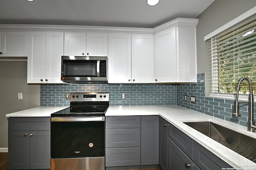
M132 34L132 83L154 83L152 34Z

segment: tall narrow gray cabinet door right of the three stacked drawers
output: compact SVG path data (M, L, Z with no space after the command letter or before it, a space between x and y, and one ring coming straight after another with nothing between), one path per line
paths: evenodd
M156 165L159 159L159 116L141 117L140 164Z

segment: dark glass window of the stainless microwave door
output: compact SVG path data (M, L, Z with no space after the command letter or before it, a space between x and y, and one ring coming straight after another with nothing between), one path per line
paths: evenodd
M63 60L63 76L96 77L97 60Z

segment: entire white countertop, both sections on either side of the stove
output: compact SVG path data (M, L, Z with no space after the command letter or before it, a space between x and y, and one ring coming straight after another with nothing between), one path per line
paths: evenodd
M6 117L50 117L52 113L67 107L35 107L24 111L7 114ZM256 138L256 132L248 132L247 127L224 121L191 109L177 105L152 106L110 106L106 116L160 115L169 123L190 136L193 140L210 150L213 154L237 169L256 170L256 163L232 151L226 146L187 126L183 122L211 121L237 132ZM242 167L242 168L241 168ZM225 168L225 167L223 167Z

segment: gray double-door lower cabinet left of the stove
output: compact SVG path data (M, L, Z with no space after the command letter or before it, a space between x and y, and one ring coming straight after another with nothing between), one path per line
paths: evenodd
M8 169L50 169L50 118L8 119Z

